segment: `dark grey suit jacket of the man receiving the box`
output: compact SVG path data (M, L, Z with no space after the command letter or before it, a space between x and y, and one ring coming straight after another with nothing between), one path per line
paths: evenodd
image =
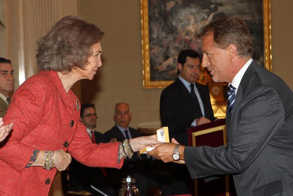
M238 196L292 196L291 89L253 61L226 117L228 145L185 148L192 178L233 174Z

